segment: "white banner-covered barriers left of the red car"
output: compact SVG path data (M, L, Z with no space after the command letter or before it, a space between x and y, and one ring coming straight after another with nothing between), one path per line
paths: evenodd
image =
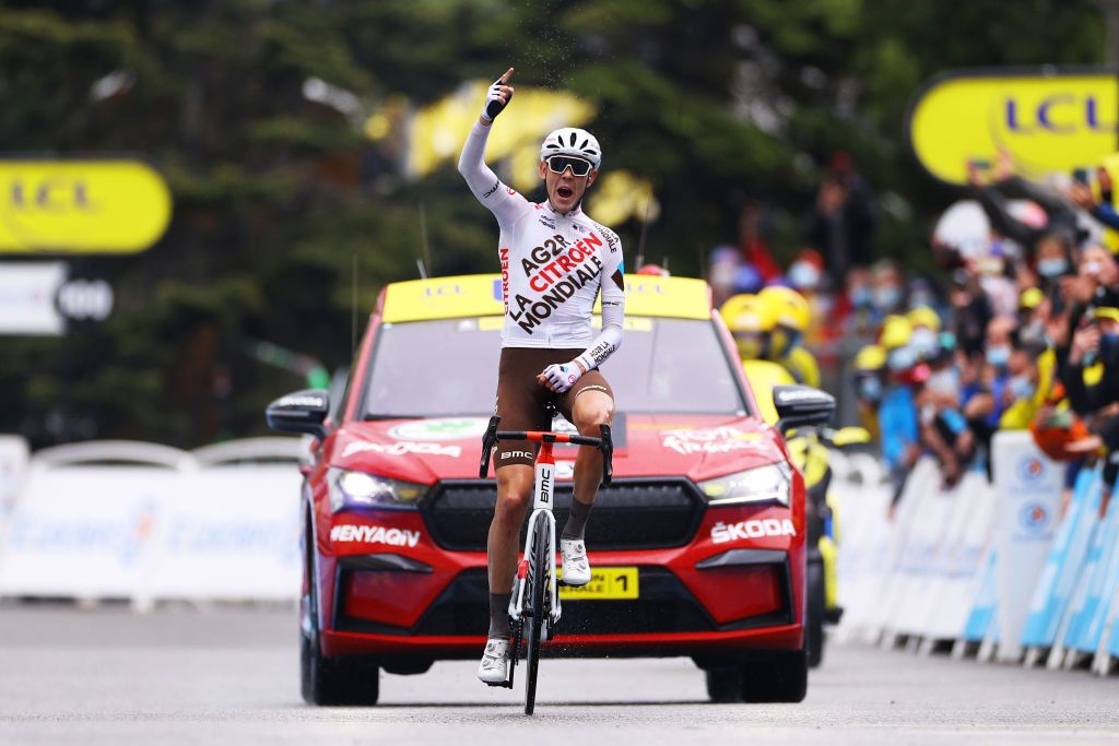
M294 602L299 438L46 448L0 484L0 598ZM22 454L22 457L21 457ZM18 465L18 472L16 466Z

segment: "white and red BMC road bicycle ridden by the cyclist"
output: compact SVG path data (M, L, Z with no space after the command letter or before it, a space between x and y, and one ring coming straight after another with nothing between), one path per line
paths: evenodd
M560 622L560 585L556 574L556 519L552 512L552 495L555 488L555 443L590 445L602 451L602 485L610 484L613 474L613 442L610 425L600 425L601 437L587 435L552 433L546 431L499 431L501 418L490 417L489 427L482 437L482 459L478 470L479 479L489 472L490 453L498 441L529 441L540 444L534 464L536 476L533 483L533 512L528 517L525 537L525 553L517 564L517 577L509 599L509 627L513 636L509 678L491 687L513 689L517 659L521 643L525 646L525 715L536 708L536 673L540 663L540 643L551 640Z

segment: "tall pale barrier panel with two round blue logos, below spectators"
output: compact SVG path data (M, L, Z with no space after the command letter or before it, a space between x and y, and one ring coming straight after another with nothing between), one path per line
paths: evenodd
M1029 595L1056 532L1064 465L1050 461L1028 432L1004 431L991 441L991 472L998 500L998 658L1014 661L1022 657Z

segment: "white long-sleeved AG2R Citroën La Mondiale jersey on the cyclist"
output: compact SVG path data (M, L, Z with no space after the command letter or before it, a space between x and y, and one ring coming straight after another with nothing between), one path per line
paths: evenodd
M579 360L591 370L622 341L621 240L577 207L563 215L548 200L529 202L501 183L482 160L489 130L474 123L459 172L501 227L501 347L584 348ZM600 290L602 332L594 337L591 314Z

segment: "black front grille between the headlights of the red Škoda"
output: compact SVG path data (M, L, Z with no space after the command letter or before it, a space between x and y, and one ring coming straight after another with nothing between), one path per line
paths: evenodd
M441 482L421 511L440 547L485 551L496 500L497 485L491 481ZM556 484L554 500L556 526L563 528L572 484ZM599 489L586 544L599 550L684 546L695 536L705 507L688 480L619 479Z

